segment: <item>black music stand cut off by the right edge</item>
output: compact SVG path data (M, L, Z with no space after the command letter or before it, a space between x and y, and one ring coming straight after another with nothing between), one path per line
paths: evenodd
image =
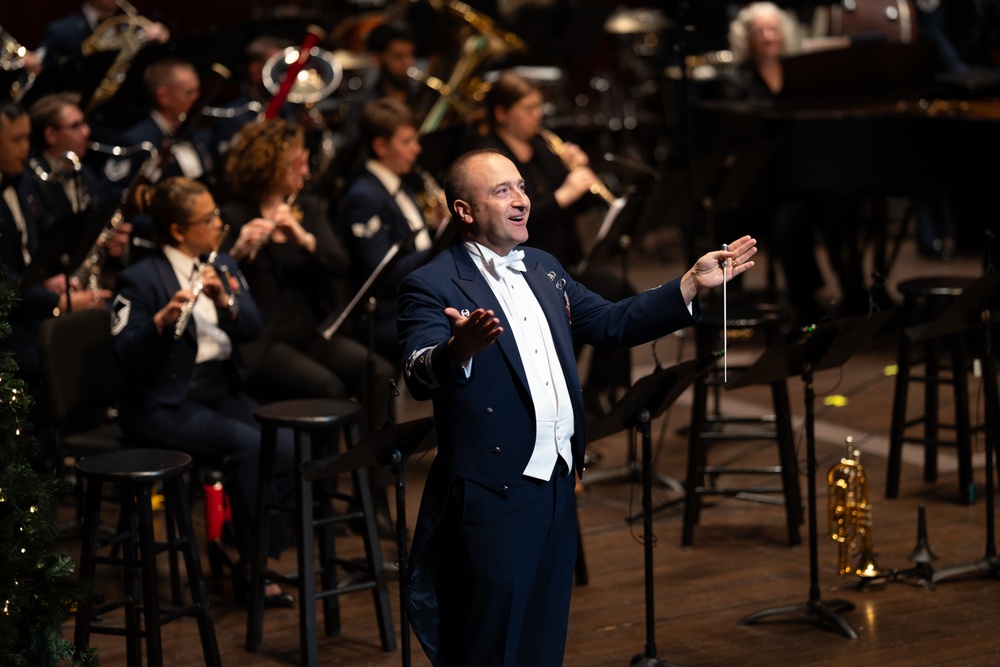
M995 451L997 441L1000 439L1000 391L997 388L997 367L992 340L992 311L1000 306L998 295L1000 295L1000 274L990 273L963 289L962 293L955 297L932 322L906 328L906 334L917 342L979 327L983 341L986 400L986 555L972 563L938 570L931 577L931 582L934 584L951 578L991 577L1000 572L994 528L996 499L993 491L993 462L997 460L1000 463L1000 459L994 459L997 456Z

